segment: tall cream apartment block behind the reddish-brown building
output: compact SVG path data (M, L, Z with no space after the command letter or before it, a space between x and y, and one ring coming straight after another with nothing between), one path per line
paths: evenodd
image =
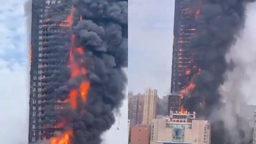
M145 90L142 125L150 125L151 120L156 118L157 98L156 89L147 88Z

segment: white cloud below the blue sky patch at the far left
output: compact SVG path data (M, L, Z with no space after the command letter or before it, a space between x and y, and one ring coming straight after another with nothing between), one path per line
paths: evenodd
M4 144L28 143L28 72L20 64L0 59L0 141Z

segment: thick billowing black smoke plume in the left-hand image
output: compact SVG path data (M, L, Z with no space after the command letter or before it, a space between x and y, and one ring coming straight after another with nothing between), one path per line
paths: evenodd
M49 86L44 89L48 95L43 98L43 123L54 125L64 119L68 124L59 131L72 130L72 144L100 144L101 134L115 122L113 110L119 109L125 98L127 78L123 68L128 66L128 1L62 0L61 4L52 7L49 17L55 21L66 19L72 6L72 30L59 36L59 43L53 44L57 46L48 55L53 57L54 53L54 58L59 57L60 60L56 62L52 58L52 61L61 64L54 70L48 70L54 74L49 76ZM71 73L67 65L72 33L75 45L84 49L85 63L79 66L86 67L86 77L69 79ZM78 100L78 110L71 110L65 104L65 110L53 109L57 100L67 99L69 91L79 88L82 81L90 82L85 105Z

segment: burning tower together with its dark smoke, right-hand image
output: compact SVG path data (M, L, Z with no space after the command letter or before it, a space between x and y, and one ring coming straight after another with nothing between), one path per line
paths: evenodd
M247 142L243 118L236 116L238 135L234 136L215 111L225 105L219 93L229 69L225 56L244 26L248 2L254 0L175 1L171 91L180 93L180 113L196 111L198 117L215 119L213 144Z

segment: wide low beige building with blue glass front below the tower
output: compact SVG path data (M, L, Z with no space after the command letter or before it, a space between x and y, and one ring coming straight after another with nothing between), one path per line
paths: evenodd
M195 113L171 113L169 117L154 119L150 144L210 144L210 124L195 118Z

